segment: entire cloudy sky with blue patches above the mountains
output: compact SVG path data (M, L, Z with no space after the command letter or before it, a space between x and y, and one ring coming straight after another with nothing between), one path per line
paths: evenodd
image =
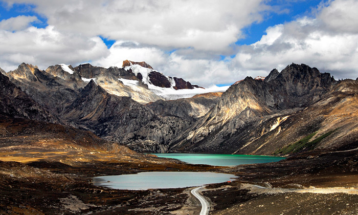
M0 67L146 61L209 87L292 62L358 77L358 0L5 0Z

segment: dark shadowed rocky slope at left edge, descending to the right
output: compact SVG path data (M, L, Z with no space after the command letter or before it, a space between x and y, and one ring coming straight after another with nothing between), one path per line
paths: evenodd
M2 116L57 122L52 115L3 74L0 74L0 98L0 115Z

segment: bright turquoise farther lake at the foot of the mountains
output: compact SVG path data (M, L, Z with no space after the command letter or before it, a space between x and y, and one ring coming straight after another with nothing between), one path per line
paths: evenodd
M217 155L217 154L186 154L165 153L153 154L161 158L174 158L191 164L208 164L212 166L236 166L252 163L269 163L283 160L283 157L257 155Z

